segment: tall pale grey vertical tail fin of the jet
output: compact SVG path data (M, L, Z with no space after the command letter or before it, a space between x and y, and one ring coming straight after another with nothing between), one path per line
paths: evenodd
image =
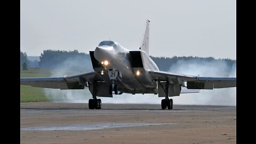
M145 51L149 54L149 20L146 21L146 27L140 44L140 50Z

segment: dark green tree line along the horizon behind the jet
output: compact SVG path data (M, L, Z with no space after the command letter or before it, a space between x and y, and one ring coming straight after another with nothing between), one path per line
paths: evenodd
M225 61L227 65L231 68L236 60L231 59L214 59L212 57L202 58L202 57L153 57L150 58L156 63L159 70L168 71L169 68L178 60L191 61L198 60L203 62L212 62L212 61ZM38 61L29 61L26 52L20 52L20 68L22 68L23 63L33 63ZM74 51L60 51L60 50L44 50L43 53L39 56L38 62L39 68L61 68L68 67L71 69L91 69L91 58L89 54L80 53L77 50Z

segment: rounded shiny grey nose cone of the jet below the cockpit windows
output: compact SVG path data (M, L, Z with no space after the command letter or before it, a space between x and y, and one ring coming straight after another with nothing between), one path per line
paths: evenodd
M110 45L101 45L96 47L94 51L94 58L97 59L99 62L110 60L113 57L113 47Z

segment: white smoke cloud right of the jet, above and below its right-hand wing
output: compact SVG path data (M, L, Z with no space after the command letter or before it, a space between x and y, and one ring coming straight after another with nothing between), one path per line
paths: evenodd
M171 66L171 73L202 77L236 77L236 63L231 67L225 60L179 60ZM236 87L202 90L200 93L180 94L173 97L175 104L236 106Z

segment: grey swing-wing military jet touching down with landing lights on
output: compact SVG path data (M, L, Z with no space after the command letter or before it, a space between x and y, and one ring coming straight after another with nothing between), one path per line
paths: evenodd
M90 51L94 71L66 77L20 78L20 84L60 90L89 87L92 94L89 109L101 109L101 99L97 97L113 97L113 94L122 93L158 94L158 97L164 97L162 109L173 109L173 100L169 97L180 93L236 87L236 78L160 71L149 57L149 22L146 20L138 51L125 49L114 41L102 41L94 51Z

